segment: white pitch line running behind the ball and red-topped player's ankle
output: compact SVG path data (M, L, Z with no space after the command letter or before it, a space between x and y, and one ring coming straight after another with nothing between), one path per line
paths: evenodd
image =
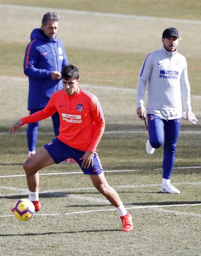
M127 210L135 209L149 209L149 208L164 208L164 207L180 207L180 206L201 206L201 203L185 203L182 205L151 205L151 206L134 206L126 207ZM116 211L116 208L112 209L102 209L102 210L90 210L90 211L77 211L77 212L66 212L65 214L36 214L35 216L57 216L57 215L73 215L73 214L88 214L90 212L104 212L104 211ZM0 215L0 218L3 217L15 217L13 215Z

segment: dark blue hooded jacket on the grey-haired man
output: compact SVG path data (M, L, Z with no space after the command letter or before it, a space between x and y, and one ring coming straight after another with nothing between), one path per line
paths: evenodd
M41 29L31 32L23 64L29 79L28 110L44 108L52 93L63 88L61 79L52 80L51 72L59 71L68 64L63 42L56 37L50 39Z

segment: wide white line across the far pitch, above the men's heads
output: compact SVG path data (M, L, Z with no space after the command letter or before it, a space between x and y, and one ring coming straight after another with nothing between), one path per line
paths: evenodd
M140 15L126 15L119 13L109 13L109 12L92 12L92 11L77 11L60 9L54 7L36 7L36 6L20 6L15 4L0 4L1 8L12 8L18 10L34 10L34 11L52 11L60 13L69 13L73 15L85 15L85 16L99 16L99 17L109 17L109 18L131 18L137 20L149 20L149 21L167 21L167 22L178 22L178 23L188 23L201 25L199 20L181 20L178 18L162 18L162 17L152 17L152 16L140 16Z

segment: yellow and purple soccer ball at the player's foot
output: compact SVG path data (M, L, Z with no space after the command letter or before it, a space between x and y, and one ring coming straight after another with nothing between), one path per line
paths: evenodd
M18 220L30 220L35 213L35 206L30 200L22 198L13 205L12 211Z

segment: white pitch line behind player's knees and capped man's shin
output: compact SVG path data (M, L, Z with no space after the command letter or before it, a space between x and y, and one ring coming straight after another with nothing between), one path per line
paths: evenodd
M174 167L174 169L200 169L201 166L187 166L187 167ZM162 168L152 169L162 170ZM140 172L141 170L103 170L104 173L118 173L118 172ZM70 174L83 174L83 172L59 172L59 173L39 173L40 176L53 176L53 175L70 175ZM26 174L4 175L0 178L16 178L25 177ZM1 188L1 187L0 187Z

